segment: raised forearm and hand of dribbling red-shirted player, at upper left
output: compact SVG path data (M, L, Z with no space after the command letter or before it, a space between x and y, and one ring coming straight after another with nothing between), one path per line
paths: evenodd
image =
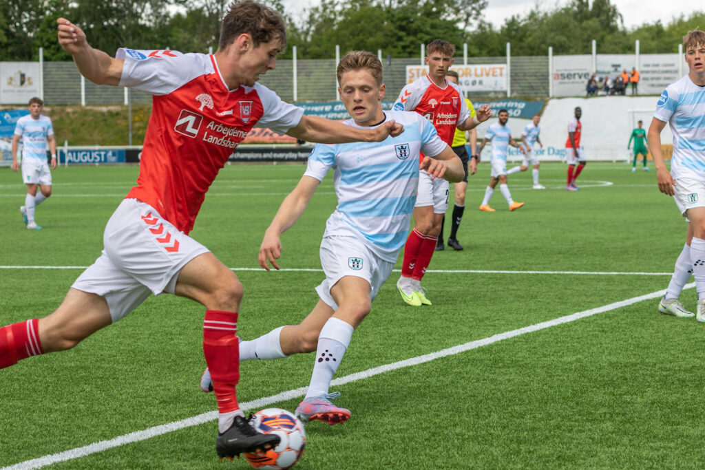
M98 85L119 85L125 61L90 47L83 30L66 18L59 18L56 23L59 23L59 44L73 56L81 75Z

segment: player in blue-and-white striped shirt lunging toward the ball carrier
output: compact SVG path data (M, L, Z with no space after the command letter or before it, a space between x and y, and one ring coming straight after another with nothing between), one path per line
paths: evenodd
M336 407L329 393L331 380L350 344L353 331L369 314L379 288L392 268L409 232L421 173L459 181L462 165L417 113L382 111L382 64L375 54L350 51L338 63L338 92L356 128L376 127L393 119L406 131L378 144L323 145L309 156L298 185L284 199L267 228L259 249L259 265L278 269L279 235L300 218L326 173L333 168L338 207L326 222L321 241L321 265L326 279L316 287L320 299L297 326L281 326L252 341L240 343L240 361L279 359L316 351L311 383L296 409L303 421L343 423L350 410ZM426 153L419 165L419 150ZM434 156L434 158L431 158ZM206 370L201 389L209 392Z

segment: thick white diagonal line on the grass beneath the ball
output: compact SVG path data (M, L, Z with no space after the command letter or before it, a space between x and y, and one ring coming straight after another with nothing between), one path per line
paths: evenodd
M691 289L692 287L695 287L695 283L689 283L683 288ZM637 302L642 302L644 300L656 299L658 297L662 297L664 294L666 294L665 289L658 290L656 292L651 292L650 294L639 295L639 297L632 297L631 299L621 300L620 302L614 302L612 304L603 305L603 307L579 311L572 315L560 316L557 319L543 321L541 323L525 326L524 328L519 328L517 330L511 330L505 333L498 333L497 335L492 335L489 338L484 338L482 340L466 342L464 345L448 347L445 350L431 352L431 354L424 354L423 356L412 357L410 359L393 362L384 366L373 367L372 369L367 369L367 371L351 373L349 376L334 379L331 382L331 385L343 385L345 383L361 381L364 378L377 376L381 373L396 371L397 369L416 366L418 364L424 364L424 362L433 361L434 359L440 359L441 357L453 356L455 354L460 354L461 352L477 349L478 347L491 345L501 340L514 338L515 336L525 335L526 333L533 333L534 331L543 330L545 328L550 328L551 326L556 326L563 323L570 323L571 321L584 319L587 316L601 314L603 312L619 309L621 307L627 307L628 305L636 304ZM242 407L243 409L259 409L267 407L270 404L283 402L285 400L291 400L292 398L296 397L303 397L306 395L306 390L307 387L288 390L286 392L281 392L276 395L271 395L269 397L263 397L257 400L251 400L250 402L240 403L240 407ZM134 433L118 436L117 438L102 440L99 443L93 443L90 445L85 445L83 447L76 447L72 450L66 450L65 452L59 452L58 454L49 454L45 455L44 457L39 457L37 459L27 460L25 462L20 462L19 464L6 466L0 470L38 469L42 466L56 464L57 462L66 462L67 460L72 459L78 459L80 457L85 457L90 454L102 452L113 447L136 443L140 440L147 440L149 438L157 437L158 435L170 433L171 431L177 431L178 429L188 428L190 426L197 426L198 424L213 421L217 417L218 412L202 413L198 414L197 416L182 419L181 421L174 421L173 423L154 426L152 428L147 428L142 431L135 431Z

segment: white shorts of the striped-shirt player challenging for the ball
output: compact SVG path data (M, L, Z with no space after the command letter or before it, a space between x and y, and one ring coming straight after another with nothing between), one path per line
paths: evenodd
M322 301L337 310L338 304L331 296L331 287L338 280L344 276L367 280L369 299L372 301L391 274L394 263L381 259L357 237L331 235L321 241L321 266L326 279L316 287L316 292Z

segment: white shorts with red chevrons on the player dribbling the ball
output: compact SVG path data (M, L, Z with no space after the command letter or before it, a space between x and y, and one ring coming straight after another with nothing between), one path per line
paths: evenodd
M209 252L137 199L123 199L105 225L103 245L71 287L104 297L113 323L150 294L173 294L180 269Z

